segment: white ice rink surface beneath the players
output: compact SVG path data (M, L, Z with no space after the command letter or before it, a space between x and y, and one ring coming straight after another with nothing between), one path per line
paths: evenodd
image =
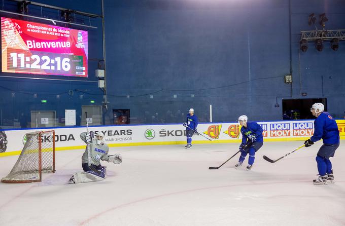
M42 182L0 183L0 225L345 225L345 143L331 158L334 184L313 185L321 142L265 142L252 170L235 169L237 143L112 147L123 162L100 182L68 184L84 150L56 152ZM0 177L18 156L0 158Z

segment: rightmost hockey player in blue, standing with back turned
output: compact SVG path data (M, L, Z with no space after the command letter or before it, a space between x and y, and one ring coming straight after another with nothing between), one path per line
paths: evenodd
M313 183L316 185L334 183L332 163L329 158L334 156L335 150L340 144L338 126L332 116L324 109L325 106L322 103L315 103L310 108L313 116L316 117L314 121L314 134L304 142L304 145L309 147L314 142L320 139L323 140L323 145L316 156L319 171L318 178L313 180Z

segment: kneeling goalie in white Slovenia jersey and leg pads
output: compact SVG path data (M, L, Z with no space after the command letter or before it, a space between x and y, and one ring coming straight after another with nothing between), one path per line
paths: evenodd
M87 144L85 152L82 156L82 167L84 172L76 172L73 174L69 183L85 183L103 180L107 176L107 167L100 165L100 160L109 163L120 164L122 158L119 154L108 155L109 147L103 142L104 135L96 133L92 138L86 132L80 134L80 138Z

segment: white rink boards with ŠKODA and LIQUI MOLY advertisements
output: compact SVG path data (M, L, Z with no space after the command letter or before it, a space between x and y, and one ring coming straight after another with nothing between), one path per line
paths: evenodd
M340 132L340 139L345 139L345 120L336 120ZM314 133L314 120L258 122L263 129L264 141L292 141L305 140ZM17 155L25 143L25 134L33 131L55 130L56 150L80 149L85 143L79 135L86 131L85 127L39 128L20 130L1 130L2 142L7 140L0 157ZM227 143L240 142L240 126L238 123L200 123L198 132L212 139L209 141L199 134L194 134L193 143ZM105 141L109 146L129 145L162 145L186 143L185 127L181 124L160 125L121 125L121 126L93 126L89 131L105 134ZM42 137L43 142L49 142L52 137Z

